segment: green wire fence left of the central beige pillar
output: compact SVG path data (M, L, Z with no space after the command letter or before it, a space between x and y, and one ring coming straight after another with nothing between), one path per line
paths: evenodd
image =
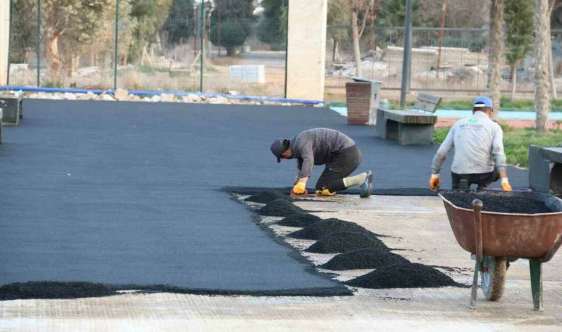
M10 85L285 95L278 22L221 19L208 1L165 17L126 0L57 3L12 0Z

